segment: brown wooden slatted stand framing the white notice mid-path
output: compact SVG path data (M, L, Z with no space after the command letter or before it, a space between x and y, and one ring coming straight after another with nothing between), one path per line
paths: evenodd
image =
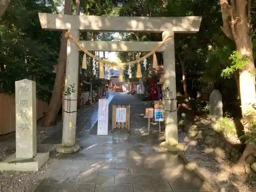
M125 108L126 109L126 122L116 122L116 109L117 108ZM127 129L130 131L130 111L131 105L115 105L113 104L112 110L112 131L114 129Z

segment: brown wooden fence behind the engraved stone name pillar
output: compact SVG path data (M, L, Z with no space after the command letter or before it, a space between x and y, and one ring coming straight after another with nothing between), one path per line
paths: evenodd
M37 120L44 116L48 104L44 101L36 102ZM0 93L0 135L15 131L15 98L11 95Z

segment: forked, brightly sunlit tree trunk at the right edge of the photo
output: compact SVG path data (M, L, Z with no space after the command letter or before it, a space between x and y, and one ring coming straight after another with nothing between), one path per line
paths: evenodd
M237 51L241 56L248 57L246 67L239 72L239 84L241 95L241 109L243 118L247 121L247 126L250 126L250 116L247 114L247 106L249 103L255 103L255 77L250 73L255 69L252 55L252 39L249 34L250 28L248 23L247 0L231 1L228 4L227 0L221 0L221 12L223 18L223 31L236 43ZM243 155L240 157L236 165L232 167L235 172L244 172L245 159L248 155L254 153L255 146L246 144Z

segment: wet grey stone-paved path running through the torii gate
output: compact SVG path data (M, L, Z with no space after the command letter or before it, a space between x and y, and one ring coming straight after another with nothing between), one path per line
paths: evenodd
M144 112L137 98L113 95L111 103L132 104L132 116ZM78 139L81 151L52 159L46 172L36 176L31 192L211 191L177 154L161 151L160 142L158 135L84 134Z

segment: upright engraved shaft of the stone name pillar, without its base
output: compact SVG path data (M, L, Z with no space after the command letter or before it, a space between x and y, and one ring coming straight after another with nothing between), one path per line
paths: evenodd
M29 79L15 81L16 158L36 155L36 83Z

